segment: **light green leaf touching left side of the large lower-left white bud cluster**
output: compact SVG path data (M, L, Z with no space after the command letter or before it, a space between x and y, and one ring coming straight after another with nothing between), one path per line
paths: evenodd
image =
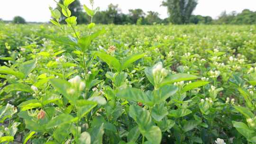
M51 79L50 83L66 99L70 100L75 104L75 100L78 99L78 97L71 96L67 93L67 90L71 88L71 84L68 81L64 81L61 79Z

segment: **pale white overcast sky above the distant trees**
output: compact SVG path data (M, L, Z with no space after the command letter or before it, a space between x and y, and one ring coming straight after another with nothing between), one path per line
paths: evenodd
M47 22L50 19L48 7L55 7L53 0L0 0L0 18L11 20L15 16L21 16L26 21ZM82 4L88 4L89 0L80 0ZM128 9L143 9L157 11L161 18L166 18L167 9L160 7L163 0L94 0L95 5L101 10L107 9L110 3L119 4L123 13ZM193 12L196 15L211 16L217 18L226 10L241 12L243 9L256 11L256 0L198 0L198 5Z

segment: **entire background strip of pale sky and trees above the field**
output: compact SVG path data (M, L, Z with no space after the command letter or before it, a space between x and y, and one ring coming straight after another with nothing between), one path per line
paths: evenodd
M62 2L62 0L59 0ZM79 24L90 18L75 0L70 5ZM95 0L100 12L94 18L101 24L256 24L256 0ZM1 0L0 20L6 23L48 23L48 7L59 9L54 0ZM64 16L61 18L64 23Z

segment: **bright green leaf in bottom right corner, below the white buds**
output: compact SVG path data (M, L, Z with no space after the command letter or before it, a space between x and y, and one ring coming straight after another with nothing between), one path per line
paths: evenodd
M247 139L253 136L254 130L249 129L249 127L245 123L232 121L232 124L234 127L236 127L238 132L241 135L245 136Z

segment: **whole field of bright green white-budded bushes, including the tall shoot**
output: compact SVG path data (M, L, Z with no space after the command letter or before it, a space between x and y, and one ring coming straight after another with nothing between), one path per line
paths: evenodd
M256 26L76 26L72 2L0 24L0 143L256 144Z

